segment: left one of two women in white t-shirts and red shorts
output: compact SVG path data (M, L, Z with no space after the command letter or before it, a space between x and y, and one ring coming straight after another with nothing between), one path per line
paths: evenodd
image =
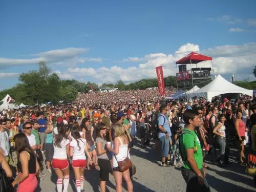
M57 179L57 191L62 192L62 182L63 182L63 192L68 191L69 186L69 161L70 157L70 146L69 146L69 130L66 125L60 125L58 127L58 134L53 139L53 160L52 167L58 177Z

